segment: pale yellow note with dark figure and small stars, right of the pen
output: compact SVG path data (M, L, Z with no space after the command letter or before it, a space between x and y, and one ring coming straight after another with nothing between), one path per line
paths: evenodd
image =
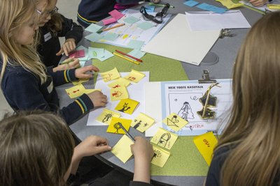
M155 123L153 118L140 112L139 116L132 121L131 126L140 132L145 132L153 123Z

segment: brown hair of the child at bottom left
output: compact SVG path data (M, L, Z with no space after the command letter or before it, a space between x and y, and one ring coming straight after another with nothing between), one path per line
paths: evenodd
M62 186L74 141L62 118L19 112L0 121L1 185Z

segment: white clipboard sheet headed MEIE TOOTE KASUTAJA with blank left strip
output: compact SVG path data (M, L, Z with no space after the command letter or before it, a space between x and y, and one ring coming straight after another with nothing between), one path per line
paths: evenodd
M146 83L144 113L155 118L155 125L146 130L146 137L153 137L158 127L174 132L167 125L162 125L163 118L172 113L188 121L188 125L179 132L174 132L179 136L196 136L209 131L221 134L232 104L232 80L217 79L217 81L221 88L215 86L210 92L217 98L217 107L211 108L216 112L214 119L202 119L197 114L203 107L199 99L210 84L198 84L197 80Z

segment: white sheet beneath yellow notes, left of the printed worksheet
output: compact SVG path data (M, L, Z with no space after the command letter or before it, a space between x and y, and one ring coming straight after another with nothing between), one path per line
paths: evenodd
M122 77L125 77L126 75L128 75L128 73L129 72L121 72L120 75ZM116 111L115 108L118 104L118 101L108 100L108 103L106 104L105 108L120 113L122 118L129 118L131 120L136 118L140 112L145 113L144 112L144 106L145 106L144 100L145 99L144 99L143 90L144 90L144 84L149 81L149 72L143 72L143 73L146 76L143 79L141 79L141 81L139 83L131 84L130 86L127 86L127 91L130 94L130 99L137 100L140 103L138 105L137 109L134 110L132 115L125 114L120 111ZM110 89L111 88L108 86L108 84L111 84L111 82L104 82L100 74L97 76L97 82L95 84L95 88L102 89L102 93L104 93L105 95L107 95L108 98L110 98ZM94 109L93 111L91 111L87 118L87 125L105 125L105 124L100 123L95 120L97 118L97 116L102 114L103 109L104 108L97 108L97 109Z

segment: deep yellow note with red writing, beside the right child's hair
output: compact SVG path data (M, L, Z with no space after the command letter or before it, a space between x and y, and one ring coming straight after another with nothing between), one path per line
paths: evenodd
M208 165L210 165L213 157L214 147L218 143L218 140L214 136L213 132L207 132L200 136L194 137L193 142L195 143L195 146L197 146L197 149L200 151L200 154L204 160Z

